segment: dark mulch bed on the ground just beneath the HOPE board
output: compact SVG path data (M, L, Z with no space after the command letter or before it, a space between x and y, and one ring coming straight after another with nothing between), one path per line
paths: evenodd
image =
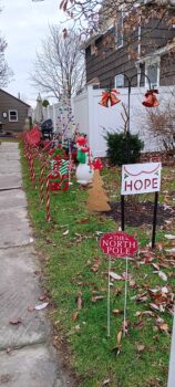
M105 212L106 217L113 218L116 222L121 222L121 203L120 202L110 202L111 211ZM125 224L140 227L143 224L152 226L153 224L153 210L154 203L151 201L147 202L137 202L131 203L125 202ZM158 205L157 209L157 226L166 224L166 221L173 220L175 218L175 208L171 208L165 205Z

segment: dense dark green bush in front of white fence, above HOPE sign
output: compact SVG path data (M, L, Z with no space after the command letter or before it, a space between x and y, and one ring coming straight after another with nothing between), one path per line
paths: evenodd
M105 139L107 157L113 165L136 163L144 147L144 143L138 138L138 135L107 132Z

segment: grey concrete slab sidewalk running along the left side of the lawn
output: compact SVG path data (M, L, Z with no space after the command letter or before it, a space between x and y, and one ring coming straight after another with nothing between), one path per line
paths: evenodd
M43 311L17 143L0 145L0 386L65 387ZM20 320L19 324L10 321ZM8 349L10 348L10 349Z

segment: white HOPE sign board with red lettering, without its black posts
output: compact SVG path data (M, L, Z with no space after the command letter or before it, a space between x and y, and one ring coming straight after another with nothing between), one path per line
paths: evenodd
M158 192L161 169L161 163L123 165L121 195Z

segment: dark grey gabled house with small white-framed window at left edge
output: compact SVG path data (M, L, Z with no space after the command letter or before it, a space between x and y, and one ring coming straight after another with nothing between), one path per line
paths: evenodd
M22 132L30 105L0 90L0 123L4 132Z

